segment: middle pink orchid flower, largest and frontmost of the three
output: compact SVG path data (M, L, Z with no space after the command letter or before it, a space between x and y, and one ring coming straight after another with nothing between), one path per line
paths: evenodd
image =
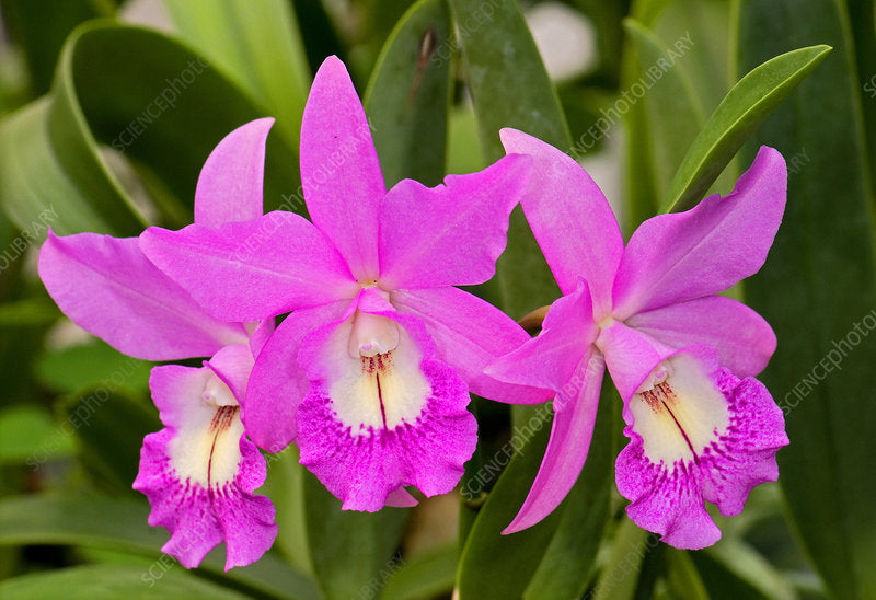
M292 311L258 355L243 423L262 448L295 441L343 501L376 511L452 489L476 442L469 391L543 402L550 392L483 376L529 336L459 290L489 279L530 159L506 157L428 188L387 191L343 62L319 69L301 126L311 221L150 228L141 247L220 320Z

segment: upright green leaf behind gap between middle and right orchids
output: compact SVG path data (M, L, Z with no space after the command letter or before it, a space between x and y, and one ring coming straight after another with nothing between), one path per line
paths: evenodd
M514 127L561 150L572 148L560 100L516 0L450 0L484 158L505 152L499 129ZM502 308L519 319L560 292L522 211L511 214L508 247L497 265Z

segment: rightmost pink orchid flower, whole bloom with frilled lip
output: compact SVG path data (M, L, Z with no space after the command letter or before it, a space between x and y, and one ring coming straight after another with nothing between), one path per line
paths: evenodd
M575 483L608 366L630 438L615 464L629 516L670 545L714 544L721 531L705 501L739 514L754 486L777 478L775 453L788 443L781 411L753 378L775 336L754 311L717 296L766 258L784 211L784 160L761 148L731 194L654 217L624 247L608 201L572 158L512 129L502 140L533 158L521 204L563 292L541 333L486 370L555 393L541 469L505 532L543 519Z

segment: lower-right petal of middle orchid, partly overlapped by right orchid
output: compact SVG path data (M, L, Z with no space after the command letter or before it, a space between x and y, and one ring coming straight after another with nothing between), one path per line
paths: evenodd
M538 404L553 397L550 390L504 383L484 374L491 362L516 350L530 339L514 320L466 291L457 288L395 290L392 304L420 319L448 362L469 384L473 394L509 402Z

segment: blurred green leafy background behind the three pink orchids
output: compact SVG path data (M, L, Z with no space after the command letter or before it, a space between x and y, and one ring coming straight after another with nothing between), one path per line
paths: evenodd
M0 598L876 598L873 2L0 0ZM712 118L746 73L820 44ZM265 558L223 573L220 547L187 572L161 554L166 532L130 488L161 428L152 365L58 312L39 243L49 227L187 224L210 149L268 115L266 209L302 211L298 129L328 55L364 97L388 185L480 170L515 126L578 159L629 235L672 199L689 153L713 165L699 200L729 192L759 145L783 152L785 224L729 293L776 330L763 379L792 446L780 484L716 516L721 543L678 551L626 519L607 389L581 480L527 533L498 530L550 415L476 399L462 493L342 514L288 449L268 457L280 533ZM509 240L474 291L520 319L558 291L520 215ZM509 443L527 449L510 464Z

